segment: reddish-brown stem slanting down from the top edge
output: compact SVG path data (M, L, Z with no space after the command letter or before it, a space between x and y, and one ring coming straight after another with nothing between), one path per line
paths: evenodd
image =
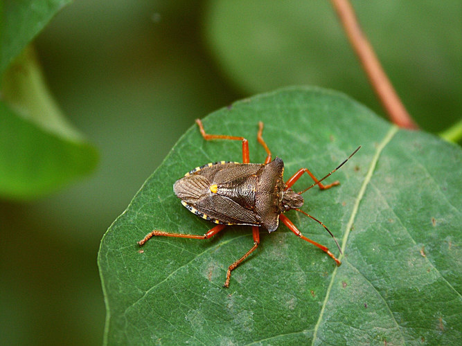
M353 6L348 0L332 0L332 5L337 11L337 15L344 26L346 35L350 40L364 71L377 94L383 107L386 109L390 120L406 129L417 129L418 126L407 113L405 106L398 97L393 85L385 74L375 55L371 44L362 32L357 22Z

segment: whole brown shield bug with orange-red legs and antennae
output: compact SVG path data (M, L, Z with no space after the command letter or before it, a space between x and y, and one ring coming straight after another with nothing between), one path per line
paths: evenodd
M318 244L302 235L292 221L284 215L284 212L294 209L317 221L332 236L341 253L337 239L335 239L330 230L321 221L300 209L303 206L303 197L301 197L301 194L310 190L315 185L318 185L321 190L327 190L332 188L332 186L339 185L338 181L329 185L323 185L321 181L344 165L361 146L357 147L353 154L348 156L335 170L326 174L322 179L318 180L308 168L301 168L290 179L284 182L284 163L278 157L272 161L272 154L262 136L263 122L259 122L258 124L257 140L267 152L265 163L249 163L249 143L244 137L207 134L201 120L197 119L196 122L205 140L242 140L242 163L230 161L208 163L186 173L173 185L173 190L177 197L181 199L183 206L195 215L217 224L217 226L211 228L204 235L168 233L161 230L153 230L138 242L139 246L143 246L153 236L208 239L219 233L226 226L252 226L254 246L245 255L240 257L239 260L229 266L226 273L226 281L224 282L224 287L228 287L229 280L231 279L231 271L245 260L260 244L259 227L263 226L269 233L272 233L278 228L279 221L281 220L295 235L317 246L332 257L337 266L341 264L326 246ZM301 192L294 192L292 185L300 179L303 173L307 173L314 183Z

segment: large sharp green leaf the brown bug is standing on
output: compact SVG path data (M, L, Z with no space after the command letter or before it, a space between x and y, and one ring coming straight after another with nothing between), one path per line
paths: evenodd
M264 345L454 345L461 340L461 162L459 147L405 131L333 91L290 88L212 113L208 133L245 136L263 162L258 121L286 179L300 167L323 176L362 149L328 181L303 195L344 249L339 267L285 226L233 226L208 240L154 237L153 229L202 235L213 224L183 208L172 185L198 165L241 161L241 143L205 141L191 127L103 237L98 265L107 305L105 343ZM136 168L135 168L136 169ZM310 185L308 175L294 185ZM286 213L303 235L335 244L319 224Z

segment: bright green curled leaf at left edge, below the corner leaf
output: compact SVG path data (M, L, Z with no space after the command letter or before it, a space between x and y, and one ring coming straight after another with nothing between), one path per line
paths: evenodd
M39 197L94 170L96 149L55 104L32 48L17 57L1 86L1 197Z

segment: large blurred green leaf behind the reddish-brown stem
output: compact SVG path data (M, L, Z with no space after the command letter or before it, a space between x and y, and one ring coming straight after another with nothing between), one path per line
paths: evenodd
M462 6L432 0L352 1L359 23L418 124L432 132L462 113ZM330 1L208 1L205 35L217 65L246 93L314 84L379 113ZM457 72L459 71L459 72ZM438 116L435 116L438 114Z

